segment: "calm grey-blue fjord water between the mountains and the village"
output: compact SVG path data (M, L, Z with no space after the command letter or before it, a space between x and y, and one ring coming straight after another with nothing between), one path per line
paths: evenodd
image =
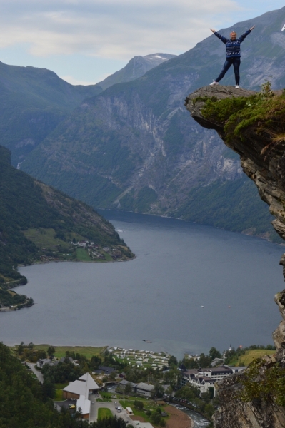
M0 312L0 340L184 352L272 343L284 248L150 215L104 211L136 253L125 263L21 267L35 305ZM152 343L142 342L150 340Z

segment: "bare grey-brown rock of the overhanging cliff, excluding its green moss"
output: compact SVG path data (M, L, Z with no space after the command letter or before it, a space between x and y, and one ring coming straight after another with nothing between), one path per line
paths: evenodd
M272 145L271 135L266 132L257 133L254 127L246 129L243 138L236 136L229 142L225 138L224 123L211 121L202 113L206 100L211 97L221 100L229 97L251 96L254 93L231 86L206 86L191 93L186 98L185 106L192 118L201 126L215 129L226 146L239 153L244 173L256 184L261 199L269 204L269 210L275 216L272 225L285 240L285 142ZM261 151L266 146L269 146L270 150L264 155ZM285 254L280 264L284 266L285 277ZM266 357L264 367L274 365L276 362L285 366L285 290L276 294L275 302L284 320L273 334L276 355ZM242 373L234 374L218 383L221 408L214 414L214 426L216 428L284 428L285 409L283 407L257 400L244 403L237 398L236 392L241 389L242 376Z

